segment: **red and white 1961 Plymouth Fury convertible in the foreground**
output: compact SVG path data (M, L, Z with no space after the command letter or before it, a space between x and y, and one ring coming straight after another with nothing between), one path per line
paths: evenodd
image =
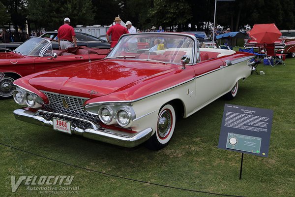
M164 50L130 53L130 39L159 37ZM132 33L101 61L35 73L14 82L16 119L107 143L165 147L176 120L225 95L252 71L249 53L198 47L186 33ZM50 82L50 83L48 83ZM183 133L184 134L184 133Z

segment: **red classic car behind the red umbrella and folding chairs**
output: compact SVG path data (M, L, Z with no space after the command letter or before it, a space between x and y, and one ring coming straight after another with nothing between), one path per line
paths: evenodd
M274 42L276 50L281 50L282 53L288 54L288 57L295 57L295 30L281 30L282 36ZM244 47L258 49L259 44L254 39L245 39ZM264 46L260 46L264 49Z

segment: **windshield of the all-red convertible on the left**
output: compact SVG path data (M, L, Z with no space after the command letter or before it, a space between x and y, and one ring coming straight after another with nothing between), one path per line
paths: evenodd
M48 40L40 37L30 37L23 44L15 49L16 52L28 56L40 56L42 49L50 43Z

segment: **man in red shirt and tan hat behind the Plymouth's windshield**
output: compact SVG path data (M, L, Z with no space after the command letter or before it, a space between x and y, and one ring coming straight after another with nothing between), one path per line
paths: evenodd
M111 43L111 49L113 49L114 46L118 43L118 39L121 37L121 35L125 33L129 33L127 28L124 28L123 26L121 26L120 17L116 17L114 21L116 25L113 25L112 27L110 27L110 29L108 30L106 34L108 42ZM110 40L110 37L109 37L111 34L112 34L112 41Z

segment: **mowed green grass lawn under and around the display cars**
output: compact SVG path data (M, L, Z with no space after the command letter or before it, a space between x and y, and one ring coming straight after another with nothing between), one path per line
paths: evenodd
M258 70L266 75L254 73L241 81L236 99L218 99L177 122L170 144L160 151L150 151L144 146L122 148L21 122L12 113L19 105L12 99L0 100L0 143L115 175L59 163L0 144L0 196L49 196L28 191L25 182L12 193L10 176L16 176L17 180L22 175L74 176L70 186L79 186L79 194L71 196L82 197L217 196L149 183L222 195L295 196L295 59L287 59L285 63L287 66L259 65ZM217 148L225 103L274 112L269 156L244 154L241 180L241 154Z

